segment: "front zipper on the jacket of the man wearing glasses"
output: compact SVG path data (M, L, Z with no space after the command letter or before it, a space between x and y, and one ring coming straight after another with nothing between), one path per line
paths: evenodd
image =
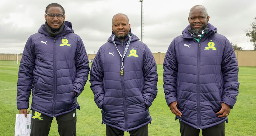
M56 103L56 95L57 95L57 87L56 87L56 40L54 38L54 44L53 44L53 106L52 106L52 112L54 117L54 111L55 111L55 103Z

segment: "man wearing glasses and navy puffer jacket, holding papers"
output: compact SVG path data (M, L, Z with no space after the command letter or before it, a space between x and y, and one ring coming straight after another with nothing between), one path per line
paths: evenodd
M49 135L56 117L61 136L76 135L77 97L88 79L89 61L82 39L65 24L64 8L52 3L45 25L31 35L20 61L17 108L27 117L32 88L31 136Z

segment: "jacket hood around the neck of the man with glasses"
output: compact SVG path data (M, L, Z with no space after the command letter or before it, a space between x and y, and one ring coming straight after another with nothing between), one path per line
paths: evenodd
M62 32L58 36L56 36L56 38L60 37L60 36L63 36L63 35L66 35L68 33L74 33L74 30L72 29L71 22L65 21L64 23L65 24L64 24L64 28L63 28ZM41 27L38 29L37 32L38 33L42 33L42 34L44 34L46 36L49 36L49 34L48 34L47 30L46 30L45 24L41 25Z

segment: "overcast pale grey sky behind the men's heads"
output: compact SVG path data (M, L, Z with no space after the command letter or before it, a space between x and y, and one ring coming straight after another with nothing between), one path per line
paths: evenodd
M132 33L141 39L141 2L139 0L1 0L0 53L22 53L28 37L44 24L45 8L58 3L65 9L66 21L72 23L89 54L97 52L110 37L112 17L129 17ZM218 33L243 50L253 50L245 29L256 17L255 0L145 0L144 43L153 53L167 51L171 41L189 25L190 9L203 5L209 23Z

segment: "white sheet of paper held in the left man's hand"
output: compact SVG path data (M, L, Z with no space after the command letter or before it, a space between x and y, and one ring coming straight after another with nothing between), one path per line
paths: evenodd
M32 114L27 115L26 118L24 114L16 114L14 136L30 136Z

